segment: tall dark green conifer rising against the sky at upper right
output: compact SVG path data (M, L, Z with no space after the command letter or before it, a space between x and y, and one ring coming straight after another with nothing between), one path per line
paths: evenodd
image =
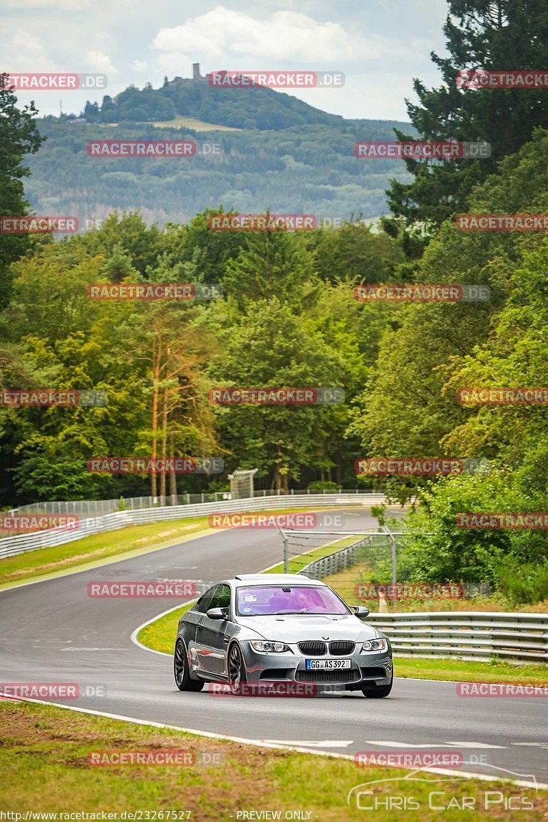
M406 159L412 182L394 180L389 205L407 224L438 227L466 211L479 183L513 155L535 129L548 127L548 97L537 89L467 89L457 85L463 70L532 69L548 63L548 10L543 0L449 0L444 25L447 57L432 53L441 85L427 89L415 79L418 103L408 114L422 140L486 141L489 159L424 162ZM400 129L398 139L409 139Z

